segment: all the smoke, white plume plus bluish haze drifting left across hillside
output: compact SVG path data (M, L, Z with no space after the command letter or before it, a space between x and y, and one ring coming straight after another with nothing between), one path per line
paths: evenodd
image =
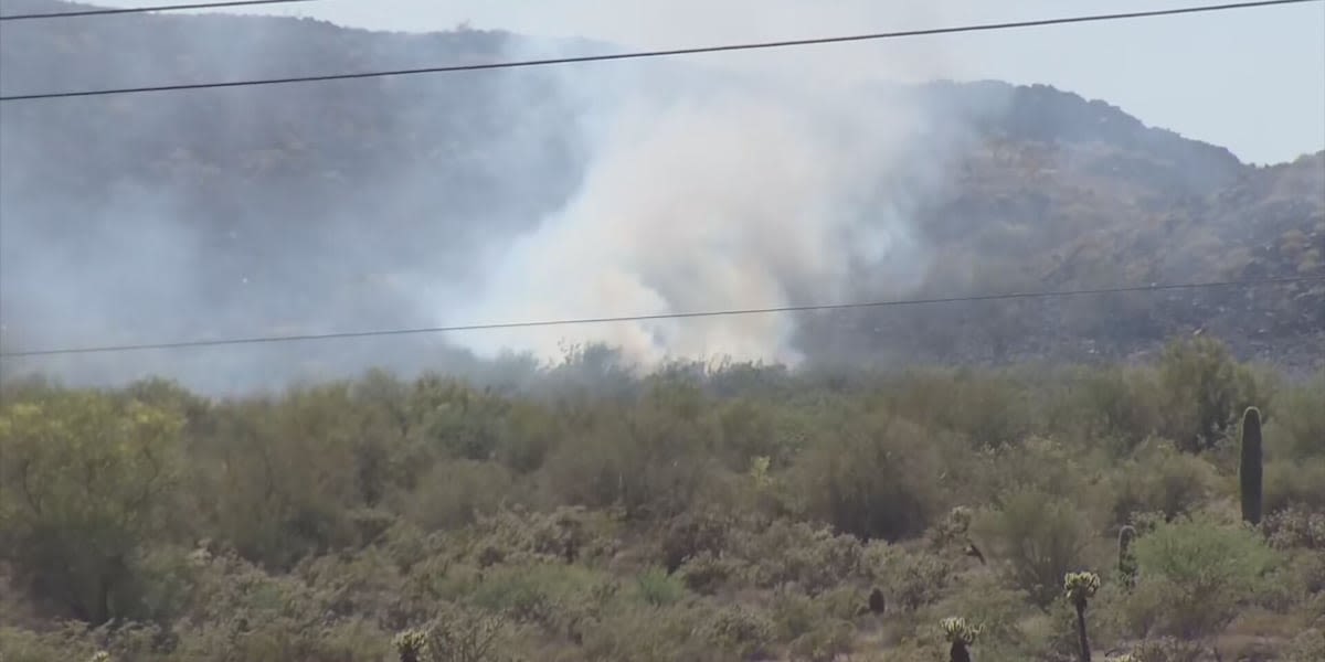
M457 52L493 61L607 48L338 32L290 19L86 25L102 32L5 26L0 87L16 94L325 73L331 65L314 57L319 49L368 53L352 66L370 69L454 61ZM117 57L69 61L68 53L87 53L50 48L80 40ZM898 71L860 57L877 52L839 54L818 70L852 62L852 75L840 79L782 68L782 56L770 56L754 69L709 66L721 58L616 62L7 106L0 346L661 315L902 294L926 261L913 212L946 184L945 163L967 134L954 117L935 120L920 95L864 82L874 75L860 71L897 78L914 73L914 58ZM498 367L476 355L556 361L576 343L606 343L645 368L668 357L796 363L806 354L802 319L5 359L0 369L83 383L156 373L233 392L375 365L492 373Z

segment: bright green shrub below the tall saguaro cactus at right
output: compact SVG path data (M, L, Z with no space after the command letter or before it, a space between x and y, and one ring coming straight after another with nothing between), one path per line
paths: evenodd
M1134 543L1133 624L1185 639L1219 632L1253 597L1277 557L1252 530L1179 519Z

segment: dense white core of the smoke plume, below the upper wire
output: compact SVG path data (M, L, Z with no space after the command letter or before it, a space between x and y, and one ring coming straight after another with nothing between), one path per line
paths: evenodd
M836 302L851 297L861 265L898 289L916 278L920 248L892 191L913 156L904 148L914 128L905 105L767 77L759 85L625 94L588 136L588 167L570 200L518 237L489 266L473 303L449 310L447 322ZM802 359L796 316L783 314L457 340L481 355L515 348L549 360L567 343L604 343L644 365L669 357Z

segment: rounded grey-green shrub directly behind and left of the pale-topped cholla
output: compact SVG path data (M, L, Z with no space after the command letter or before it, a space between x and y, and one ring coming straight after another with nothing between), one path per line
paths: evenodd
M1015 587L1041 606L1061 592L1063 576L1080 568L1090 543L1085 514L1072 502L1035 489L1014 489L977 518L975 530L994 543Z

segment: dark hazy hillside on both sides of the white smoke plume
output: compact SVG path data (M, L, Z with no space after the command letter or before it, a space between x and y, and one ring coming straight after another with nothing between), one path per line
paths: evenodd
M7 0L4 12L69 7ZM237 16L12 21L0 30L5 95L590 48ZM621 71L636 85L686 75L672 65L602 75ZM492 246L534 228L579 185L587 102L559 75L494 70L7 103L0 343L73 327L159 339L427 323L419 291L478 278ZM925 256L918 285L872 278L865 265L852 299L1325 273L1325 152L1253 167L1045 86L861 91L861 103L888 98L925 109L931 127L961 126L963 139L949 140L942 185L910 201ZM914 154L928 135L914 132ZM187 282L163 278L168 269ZM144 320L146 331L130 334ZM807 318L798 346L853 364L1089 359L1202 332L1244 357L1318 368L1325 283L833 312ZM89 344L66 339L76 340Z

